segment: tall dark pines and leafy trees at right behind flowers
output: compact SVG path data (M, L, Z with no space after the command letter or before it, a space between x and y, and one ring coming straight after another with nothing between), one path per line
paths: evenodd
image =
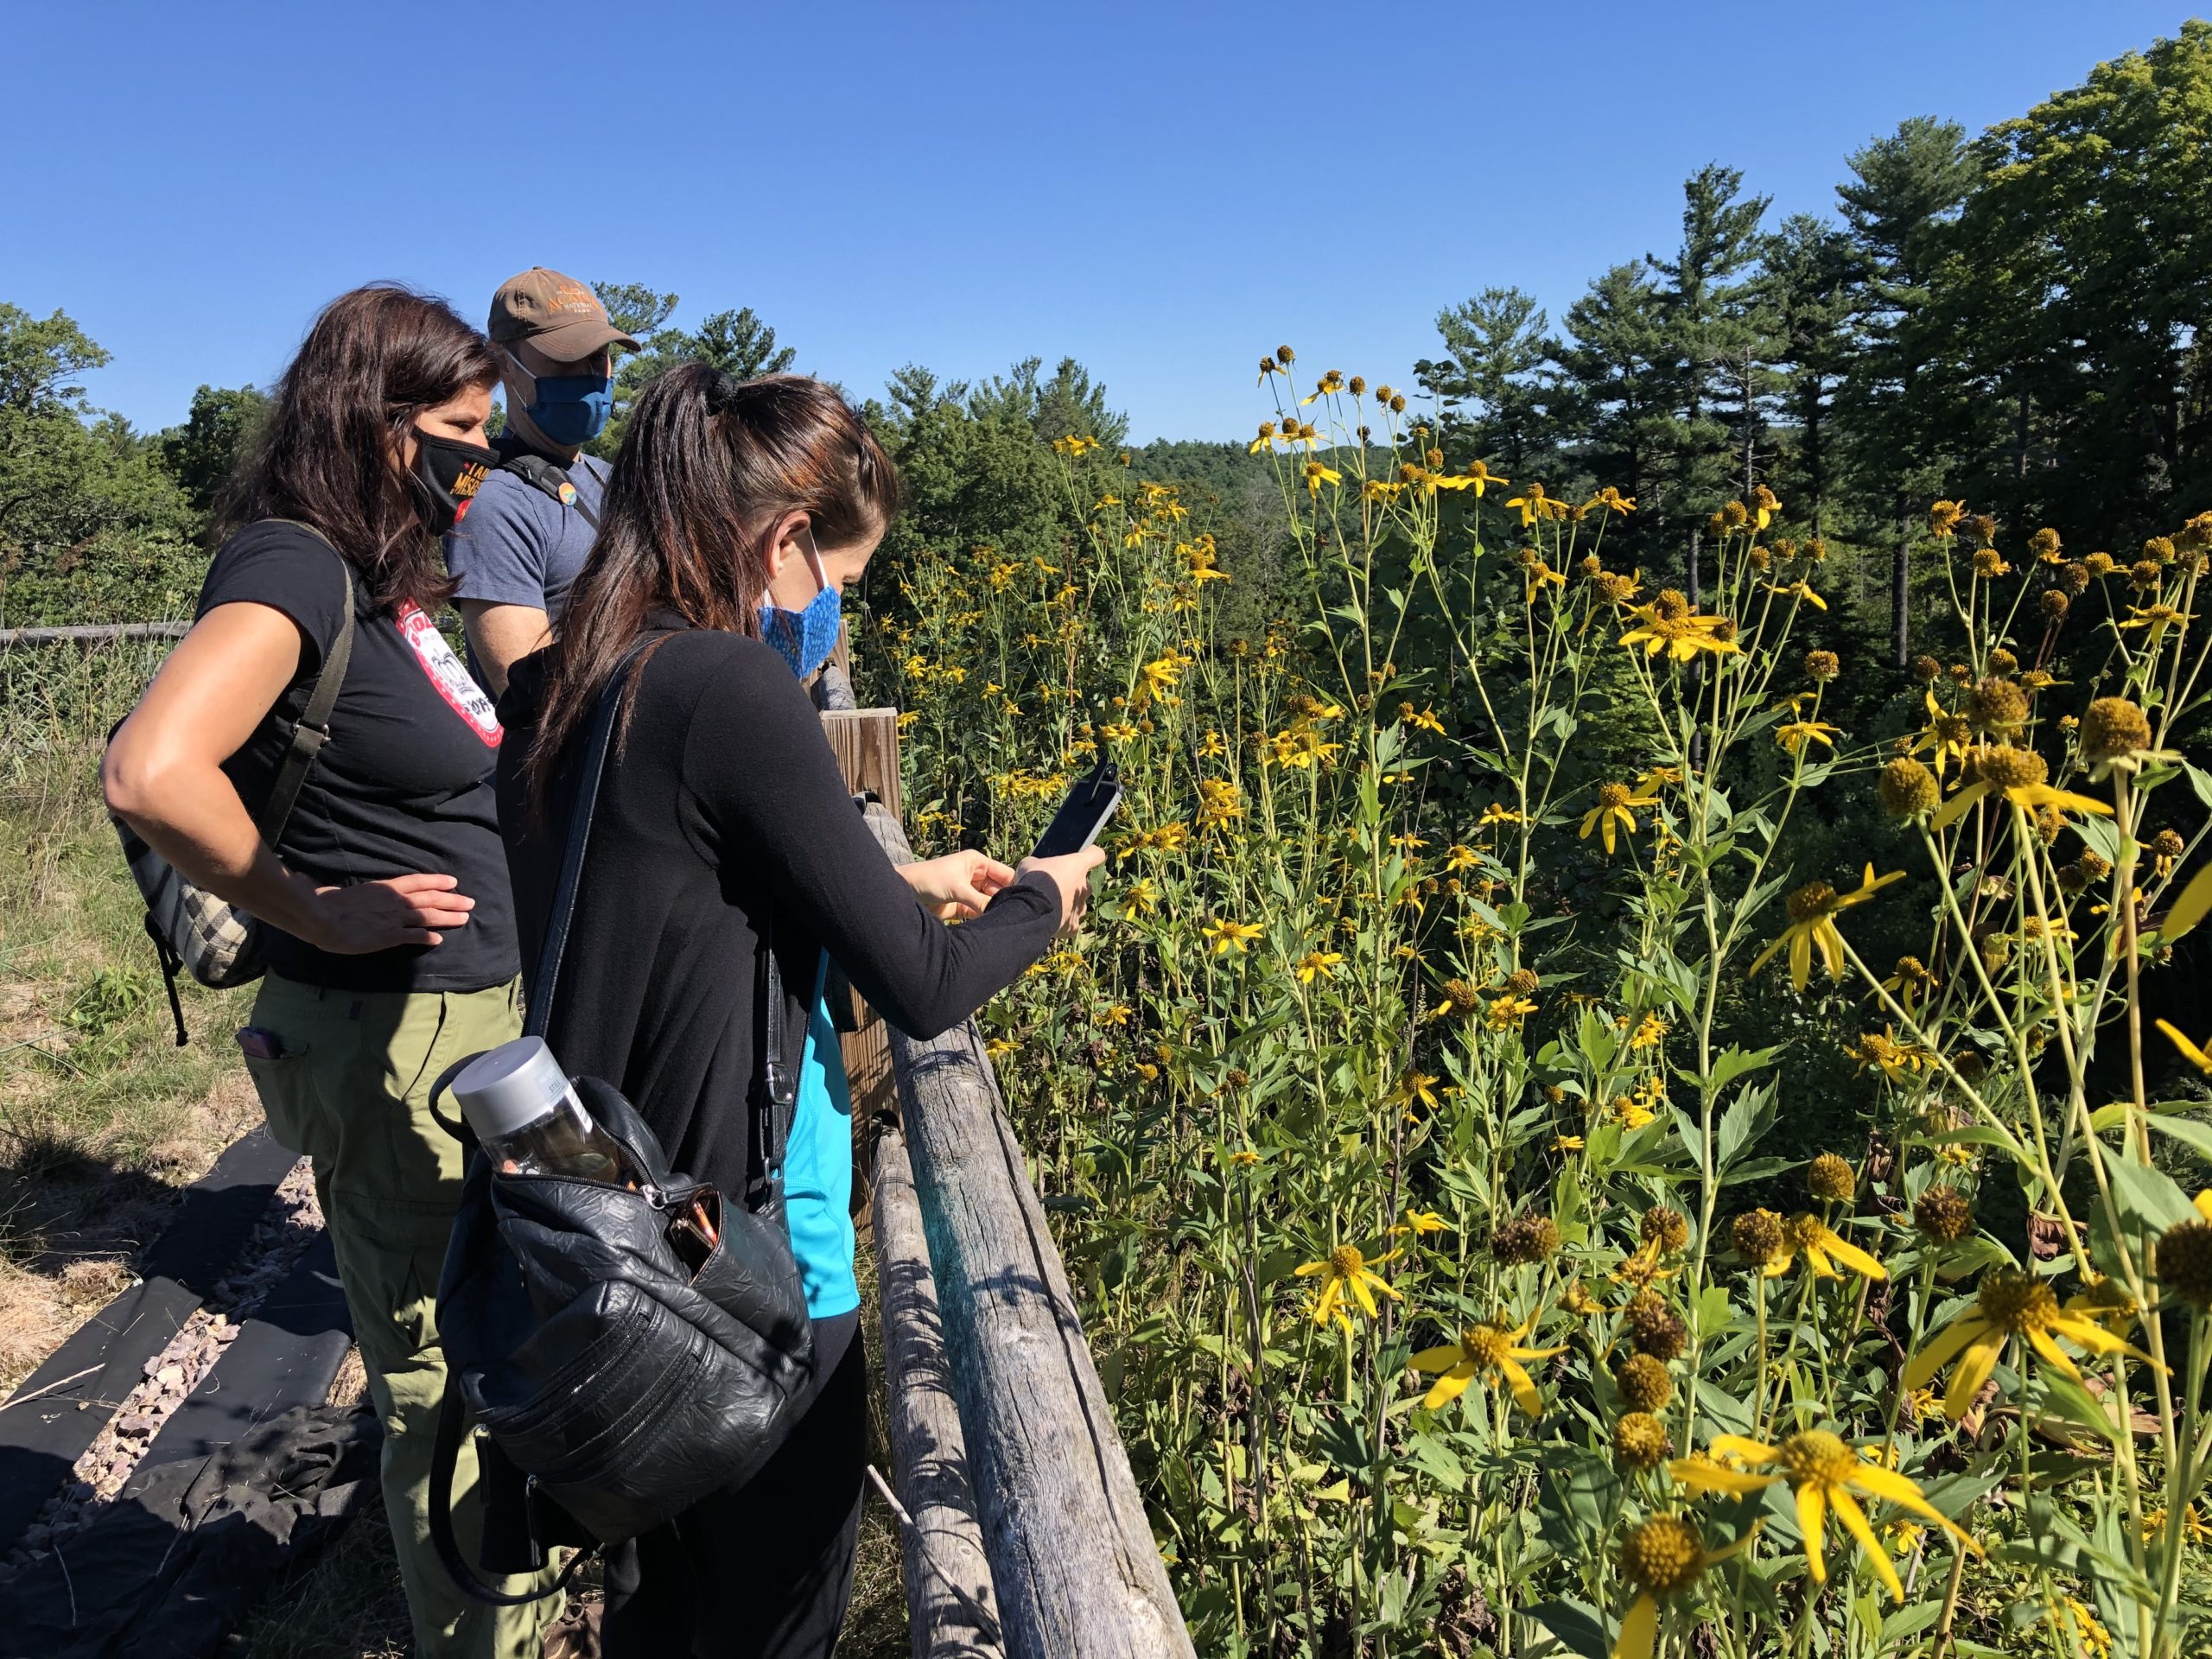
M2208 164L2212 24L2188 22L1980 137L1902 122L1847 157L1832 217L1776 221L1705 166L1672 252L1599 274L1557 332L1486 288L1416 372L1449 451L1632 493L1626 535L1661 571L1759 484L1887 553L1902 666L1931 498L2115 553L2205 504Z

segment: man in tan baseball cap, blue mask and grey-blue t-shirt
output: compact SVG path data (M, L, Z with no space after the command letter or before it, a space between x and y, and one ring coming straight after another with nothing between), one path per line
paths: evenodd
M504 358L502 465L447 533L445 562L471 666L498 697L515 659L544 644L591 553L606 462L582 449L613 409L615 349L637 341L586 283L544 265L500 283L487 332Z

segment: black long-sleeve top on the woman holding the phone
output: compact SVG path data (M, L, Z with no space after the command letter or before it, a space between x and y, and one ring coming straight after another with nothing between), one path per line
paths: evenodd
M668 622L668 619L664 619ZM584 754L562 752L544 827L522 761L544 655L515 664L500 721L498 801L535 975ZM1060 898L1031 874L960 927L931 916L860 821L821 719L770 646L684 630L637 670L637 703L606 759L546 1042L571 1075L622 1088L672 1168L723 1192L748 1172L754 973L765 907L796 1068L821 949L885 1020L945 1031L1053 940Z

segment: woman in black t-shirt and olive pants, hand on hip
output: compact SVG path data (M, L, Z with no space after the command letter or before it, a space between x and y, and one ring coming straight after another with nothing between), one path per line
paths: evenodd
M460 1148L429 1084L520 1033L491 768L500 721L431 622L438 535L495 458L500 358L442 301L358 288L307 332L221 513L199 619L108 745L108 807L268 931L239 1033L279 1144L314 1159L414 1615L434 1659L538 1659L557 1599L480 1608L429 1546L436 1292ZM257 827L325 659L327 741ZM473 1482L473 1460L462 1480ZM518 1584L520 1586L520 1584Z

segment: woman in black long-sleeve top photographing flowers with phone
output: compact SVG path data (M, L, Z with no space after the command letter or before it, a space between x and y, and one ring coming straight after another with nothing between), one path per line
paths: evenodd
M814 1394L759 1475L615 1555L608 1659L836 1644L867 1396L825 967L896 1026L945 1031L1075 927L1099 863L1086 849L1006 869L964 852L896 869L867 834L799 681L830 655L838 597L896 509L889 456L834 389L672 369L630 416L560 637L515 664L500 701L500 823L535 967L591 714L635 661L549 1009L562 1066L619 1086L672 1168L743 1192L763 1155L745 1095L772 951L792 1033L781 1062L799 1077L783 1192Z

